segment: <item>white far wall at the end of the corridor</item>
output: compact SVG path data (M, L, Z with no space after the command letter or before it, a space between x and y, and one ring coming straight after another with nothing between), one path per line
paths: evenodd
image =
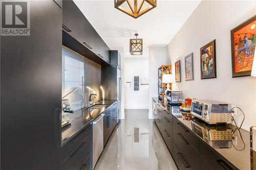
M124 58L124 108L148 109L148 85L140 85L139 91L134 91L134 76L148 80L148 57ZM131 82L131 86L129 83Z

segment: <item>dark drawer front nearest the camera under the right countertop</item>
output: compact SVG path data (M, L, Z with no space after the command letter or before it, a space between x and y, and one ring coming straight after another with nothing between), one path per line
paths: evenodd
M214 151L211 151L206 144L200 142L200 154L205 159L205 163L213 169L218 170L233 170L238 169L234 167L233 165L229 164L228 162L224 161L219 157L217 154L214 153ZM203 166L203 164L202 164Z

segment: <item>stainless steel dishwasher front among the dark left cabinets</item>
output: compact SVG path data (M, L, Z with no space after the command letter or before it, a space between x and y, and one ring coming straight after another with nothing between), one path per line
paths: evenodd
M93 121L93 155L92 155L92 169L94 169L97 160L103 151L103 117L101 114Z

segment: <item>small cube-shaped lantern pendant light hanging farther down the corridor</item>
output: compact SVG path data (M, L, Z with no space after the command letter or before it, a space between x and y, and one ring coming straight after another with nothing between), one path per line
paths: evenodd
M142 38L137 38L139 34L135 34L136 39L130 39L130 53L131 55L142 55Z

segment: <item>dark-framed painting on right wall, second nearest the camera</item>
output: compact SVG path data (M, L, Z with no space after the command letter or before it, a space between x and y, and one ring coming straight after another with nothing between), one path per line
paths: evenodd
M217 78L215 40L200 48L201 79Z

